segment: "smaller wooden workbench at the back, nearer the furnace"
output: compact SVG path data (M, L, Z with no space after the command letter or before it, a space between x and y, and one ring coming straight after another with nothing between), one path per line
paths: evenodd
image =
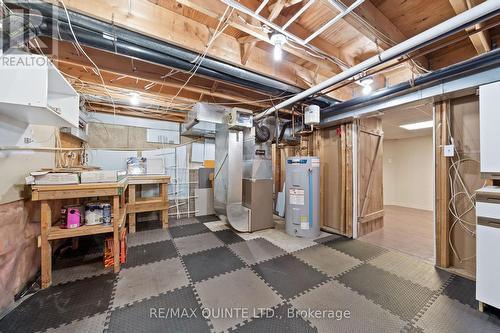
M135 232L136 213L159 211L163 229L168 228L168 183L169 176L164 175L132 175L128 176L128 228L130 233ZM160 196L141 198L137 196L137 186L158 184Z

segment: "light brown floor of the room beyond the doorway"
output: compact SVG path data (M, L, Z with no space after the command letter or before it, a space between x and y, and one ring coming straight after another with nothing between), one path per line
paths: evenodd
M434 262L433 212L401 206L384 206L384 228L360 238Z

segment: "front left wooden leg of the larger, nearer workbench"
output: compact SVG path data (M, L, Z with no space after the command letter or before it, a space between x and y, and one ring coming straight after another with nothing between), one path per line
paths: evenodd
M41 202L41 266L42 266L42 289L52 284L52 248L49 241L49 230L52 226L52 210L49 202Z

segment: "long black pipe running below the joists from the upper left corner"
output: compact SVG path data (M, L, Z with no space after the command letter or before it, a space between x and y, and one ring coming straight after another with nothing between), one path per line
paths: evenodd
M40 35L51 38L60 35L63 40L74 41L69 30L66 13L63 9L46 2L19 2L17 6L29 9L30 11L38 11L44 16L44 24L40 25L37 29ZM69 16L75 35L82 45L124 54L184 71L193 68L193 61L199 55L196 52L117 27L86 15L69 11ZM57 27L58 31L53 31L53 26ZM104 38L103 34L111 36L114 40ZM303 89L296 86L210 57L206 57L202 61L197 73L266 94L286 97L286 95L303 91ZM314 103L319 103L323 107L333 105L337 102L338 100L327 96L321 96L314 100Z

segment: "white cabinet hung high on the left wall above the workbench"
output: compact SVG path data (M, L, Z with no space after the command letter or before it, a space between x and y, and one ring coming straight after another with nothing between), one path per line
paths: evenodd
M45 56L3 55L0 113L29 124L78 127L80 97Z

